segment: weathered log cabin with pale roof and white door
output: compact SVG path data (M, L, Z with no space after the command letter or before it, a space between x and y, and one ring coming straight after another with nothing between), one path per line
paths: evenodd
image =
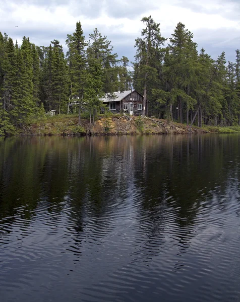
M106 94L102 99L103 104L109 106L109 111L112 113L128 113L129 115L143 114L143 96L136 90L127 90L123 92L114 92L114 98L110 94ZM147 100L146 100L147 113Z

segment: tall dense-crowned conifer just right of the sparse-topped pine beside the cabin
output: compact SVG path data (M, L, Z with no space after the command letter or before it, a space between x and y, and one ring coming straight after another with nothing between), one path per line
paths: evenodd
M178 23L168 44L165 78L170 92L171 106L175 105L176 119L181 123L184 119L184 111L187 124L189 123L189 110L196 103L193 88L197 85L197 59L197 44L193 42L193 34L183 23Z

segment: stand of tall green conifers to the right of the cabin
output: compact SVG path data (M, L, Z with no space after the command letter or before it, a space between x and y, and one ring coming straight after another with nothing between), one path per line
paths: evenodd
M142 21L133 79L150 101L148 114L190 126L240 125L240 51L234 63L224 52L213 60L203 48L198 52L184 24L167 40L151 17Z

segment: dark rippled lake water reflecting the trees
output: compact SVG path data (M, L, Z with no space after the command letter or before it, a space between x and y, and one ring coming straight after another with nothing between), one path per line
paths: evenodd
M0 140L0 300L240 301L240 135Z

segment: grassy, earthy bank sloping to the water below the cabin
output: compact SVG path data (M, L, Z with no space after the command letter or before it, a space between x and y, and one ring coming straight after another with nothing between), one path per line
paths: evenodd
M194 127L192 132L203 132ZM89 119L81 117L78 125L78 115L56 115L46 117L42 121L31 120L22 130L21 135L121 135L121 134L181 134L189 133L183 124L167 122L166 120L142 118L123 115L100 115L89 126Z

